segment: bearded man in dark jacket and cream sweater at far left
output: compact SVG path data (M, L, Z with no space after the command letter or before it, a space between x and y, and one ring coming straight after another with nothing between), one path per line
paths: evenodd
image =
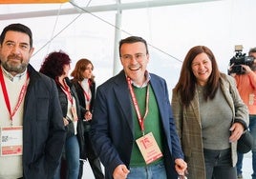
M32 30L0 35L0 178L51 179L66 132L54 81L29 64ZM14 145L15 144L15 145Z

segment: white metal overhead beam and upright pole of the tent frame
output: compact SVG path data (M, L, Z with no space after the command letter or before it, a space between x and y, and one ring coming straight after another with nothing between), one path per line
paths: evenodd
M13 0L11 0L13 1ZM63 2L65 0L62 0ZM118 42L121 38L121 11L122 10L134 10L134 9L145 9L145 8L155 8L155 7L164 7L164 6L174 6L174 5L183 5L183 4L192 4L192 3L206 3L211 1L221 1L221 0L152 0L152 1L143 1L143 2L134 2L134 3L121 3L121 0L117 0L116 4L102 5L102 6L91 6L91 7L80 7L77 9L75 2L72 0L69 1L74 8L72 9L63 9L63 10L39 10L39 11L27 11L27 12L17 12L17 13L8 13L0 14L0 20L12 20L12 19L23 19L23 18L36 18L36 17L46 17L46 16L55 16L58 15L68 15L68 14L77 14L77 13L93 13L100 11L117 11L116 13L116 30L115 30L115 44L114 44L114 67L113 75L117 74L120 69L120 64L118 62ZM43 3L43 0L40 2ZM49 2L49 0L46 0ZM17 0L17 4L22 3L22 1Z

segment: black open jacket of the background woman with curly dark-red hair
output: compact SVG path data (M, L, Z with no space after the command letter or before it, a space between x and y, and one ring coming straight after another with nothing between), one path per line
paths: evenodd
M79 147L80 147L80 158L86 159L86 157L84 156L85 155L85 152L84 152L84 135L83 135L84 128L83 128L83 124L82 124L82 119L83 119L83 115L85 113L85 109L83 109L79 105L79 100L77 98L75 88L74 88L73 84L71 83L71 81L69 80L69 78L65 78L65 81L66 81L66 84L71 89L72 96L75 97L75 106L76 106L76 112L77 112L77 116L78 116L77 139L78 139L78 143L79 143ZM57 85L57 89L58 89L59 102L60 102L60 106L61 106L61 109L62 109L63 117L66 117L66 114L67 114L67 111L68 111L68 98L67 98L67 95L65 94L65 92L61 89L60 85Z

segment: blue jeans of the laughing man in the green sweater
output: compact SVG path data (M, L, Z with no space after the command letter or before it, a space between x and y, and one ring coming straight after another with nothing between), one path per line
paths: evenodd
M167 179L163 162L153 166L130 168L127 179Z

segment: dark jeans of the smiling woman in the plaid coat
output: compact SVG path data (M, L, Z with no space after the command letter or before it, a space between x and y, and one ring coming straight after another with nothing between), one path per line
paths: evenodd
M235 179L236 168L232 167L231 149L203 149L206 179Z

